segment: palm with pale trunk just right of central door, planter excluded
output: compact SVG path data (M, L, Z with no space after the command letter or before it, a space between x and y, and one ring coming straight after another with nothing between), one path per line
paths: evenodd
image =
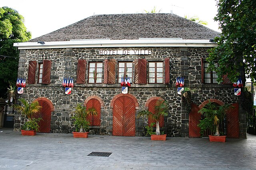
M164 100L158 100L155 106L155 113L149 110L142 110L138 113L137 117L150 117L152 120L156 121L156 135L160 135L159 120L162 116L168 115L168 103Z

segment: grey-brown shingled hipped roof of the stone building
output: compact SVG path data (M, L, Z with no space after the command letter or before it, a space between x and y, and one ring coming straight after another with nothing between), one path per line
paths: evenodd
M175 14L109 14L85 18L30 42L70 39L212 39L219 33Z

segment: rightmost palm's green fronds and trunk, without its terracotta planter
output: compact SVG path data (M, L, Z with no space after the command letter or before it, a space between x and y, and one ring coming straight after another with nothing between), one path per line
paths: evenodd
M198 113L201 113L205 119L208 119L213 123L216 129L214 136L220 136L219 123L220 121L224 120L226 113L232 108L233 106L230 104L219 106L214 102L209 102L202 109L200 109Z

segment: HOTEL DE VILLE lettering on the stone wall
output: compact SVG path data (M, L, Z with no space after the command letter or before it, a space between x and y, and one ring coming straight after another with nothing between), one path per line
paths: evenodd
M151 55L151 50L100 50L100 55Z

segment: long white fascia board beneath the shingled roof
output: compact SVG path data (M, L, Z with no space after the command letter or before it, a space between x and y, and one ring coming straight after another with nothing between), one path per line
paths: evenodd
M216 47L217 43L209 39L82 39L70 41L52 41L44 44L36 42L14 43L18 49L56 49L56 48L92 48L92 47Z

